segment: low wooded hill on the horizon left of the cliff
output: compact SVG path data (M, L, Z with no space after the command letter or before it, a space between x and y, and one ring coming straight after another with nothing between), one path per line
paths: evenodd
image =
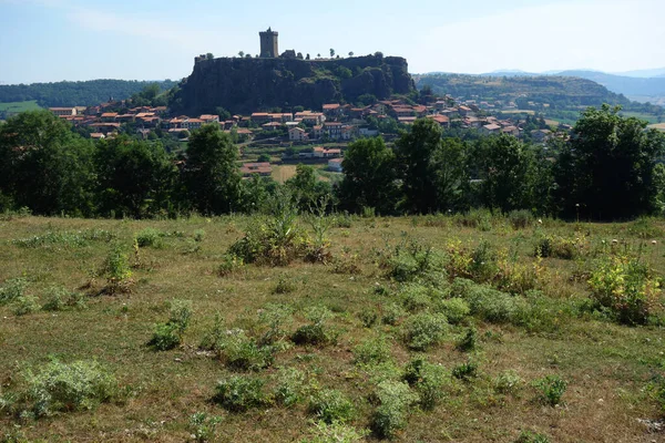
M84 82L55 82L0 85L0 103L35 101L42 107L92 106L115 100L129 99L145 86L157 83L162 91L173 87L171 80L149 82L135 80L90 80Z

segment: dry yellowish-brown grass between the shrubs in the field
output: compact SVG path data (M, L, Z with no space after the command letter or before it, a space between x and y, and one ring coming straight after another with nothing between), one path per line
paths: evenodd
M636 248L647 240L651 249L645 253L646 259L654 268L665 269L663 222L652 220L646 228L640 225L637 229L635 224L577 226L544 220L541 228L520 231L507 223L497 223L489 231L478 231L458 227L444 217L437 218L436 223L424 217L403 217L355 218L350 228L331 230L334 255L342 256L342 249L357 254L359 275L339 275L324 265L297 262L287 268L246 266L231 277L218 277L215 268L223 254L242 236L248 223L246 217L166 222L28 217L0 222L0 261L3 264L0 284L23 275L30 280L28 291L35 296L54 284L69 289L89 284L89 270L103 261L110 245L90 241L84 247L21 248L12 243L14 239L45 231L106 229L129 247L133 235L145 227L181 233L166 237L163 248L141 249L142 266L134 269L135 285L131 293L91 297L83 311L16 317L9 307L0 307L0 394L20 384L20 372L24 368L39 368L50 357L62 361L94 358L134 393L125 403L25 423L22 432L29 439L49 441L182 442L191 434L190 415L204 411L222 416L217 441L293 442L307 437L311 425L304 404L290 410L272 406L233 414L211 403L216 381L231 373L219 361L196 349L212 326L215 312L219 312L228 326L246 324L247 318L255 318L268 302L296 308L291 329L305 321L303 308L327 306L337 313L334 326L341 334L337 346L293 347L277 354L274 367L259 374L269 377L280 365L306 371L318 385L345 392L358 410L358 419L352 424L367 427L372 410L367 398L372 384L369 374L354 364L351 349L369 333L381 331L393 338L391 351L398 364L413 357L397 340L399 328L375 326L368 330L358 319L361 310L378 309L389 301L374 291L377 284L393 285L377 267L376 250L387 243L397 244L402 235L441 250L452 238L463 245L475 245L484 238L499 248L515 248L520 259L528 261L533 260L538 229L565 236L589 233L592 244L618 238ZM197 229L205 230L205 238L201 249L194 251L193 237ZM659 236L655 237L658 244L653 247L651 234ZM564 303L566 299L586 296L585 285L570 279L580 264L543 261L548 276L543 289L550 297ZM279 278L295 282L295 290L287 295L275 293ZM99 279L93 281L90 291L94 292L101 285ZM165 319L166 301L174 298L193 301L193 324L184 337L184 347L154 352L145 343L153 324ZM481 342L474 359L480 363L480 378L458 384L433 412L415 411L408 427L396 441L512 442L520 430L542 432L550 435L552 442L661 441L664 435L647 434L637 419L659 415L645 387L665 364L662 329L627 328L576 317L562 319L554 331L543 332L479 322ZM430 361L449 369L466 361L467 354L454 350L456 334L462 329L453 328L442 346L430 350ZM495 393L492 378L509 369L528 383L550 373L565 378L570 381L565 404L549 408L534 402L535 391L528 383L514 396ZM11 418L3 416L0 430L11 429L13 423Z

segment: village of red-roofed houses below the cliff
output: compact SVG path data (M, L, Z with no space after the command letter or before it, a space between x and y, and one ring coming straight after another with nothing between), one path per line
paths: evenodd
M51 107L50 111L74 127L85 128L93 140L135 131L134 135L144 140L158 138L154 134L160 134L186 143L192 131L205 124L216 124L222 131L235 135L244 154L250 153L252 148L267 146L282 153L276 162L243 155L241 172L244 176L269 176L275 163L326 165L329 172L341 173L341 157L348 143L377 135L390 142L400 127L411 125L417 119L431 119L444 130L458 127L475 130L483 135L524 135L524 121L500 120L490 114L495 106L510 110L513 103L477 103L451 96L427 104L411 104L405 99L378 101L365 106L326 103L315 111L257 111L249 115L231 115L227 120L215 114L168 116L166 106L127 107L129 104L110 100L96 106ZM387 126L395 131L386 130ZM529 135L533 142L544 143L553 133L540 128L532 130Z

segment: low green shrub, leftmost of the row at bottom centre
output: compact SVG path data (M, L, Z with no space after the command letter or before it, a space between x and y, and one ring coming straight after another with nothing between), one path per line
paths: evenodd
M231 412L244 412L268 402L264 393L265 381L258 377L233 375L217 382L213 400Z

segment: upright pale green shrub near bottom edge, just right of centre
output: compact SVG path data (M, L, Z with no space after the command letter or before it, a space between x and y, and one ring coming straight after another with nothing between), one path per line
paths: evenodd
M378 403L371 419L372 429L378 436L388 439L406 427L409 408L418 402L418 395L407 383L391 380L380 382L372 396Z

